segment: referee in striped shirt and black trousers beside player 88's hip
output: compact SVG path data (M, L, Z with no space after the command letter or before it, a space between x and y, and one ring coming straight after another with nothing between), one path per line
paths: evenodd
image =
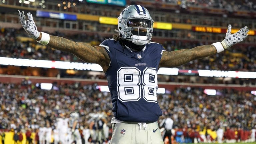
M169 139L169 143L172 143L172 126L173 126L173 120L170 118L171 115L165 116L164 119L162 120L162 122L160 123L160 127L164 127L165 128L165 132L164 132L164 137L163 140L165 139L166 136L168 136Z

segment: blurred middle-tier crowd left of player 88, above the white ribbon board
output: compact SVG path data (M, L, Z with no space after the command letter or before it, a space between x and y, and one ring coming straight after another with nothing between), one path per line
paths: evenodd
M63 33L55 32L52 35L61 36L68 38L74 41L85 41L90 42L94 41L94 37L89 37L85 34L81 35L64 35ZM13 58L26 58L26 59L41 59L41 60L58 60L58 61L74 61L78 62L81 60L75 57L74 55L54 50L51 48L46 48L43 45L35 43L32 39L21 40L18 37L25 36L27 37L26 32L21 29L14 28L2 28L0 32L0 56L2 57L13 57ZM95 36L96 37L96 36ZM97 38L96 41L99 41L103 38Z

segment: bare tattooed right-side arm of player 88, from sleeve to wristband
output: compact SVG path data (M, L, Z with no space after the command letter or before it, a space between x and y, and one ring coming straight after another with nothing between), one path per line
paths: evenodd
M159 67L177 67L195 59L211 56L216 52L213 45L198 46L189 50L164 51Z

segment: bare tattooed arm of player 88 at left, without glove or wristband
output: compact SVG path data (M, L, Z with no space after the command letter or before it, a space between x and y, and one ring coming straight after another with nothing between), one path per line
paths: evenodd
M39 41L41 37L42 34L40 33L37 40ZM57 36L50 36L50 41L47 46L57 50L70 52L85 62L99 64L104 72L106 72L109 67L110 58L104 47L93 47L86 43L74 42Z

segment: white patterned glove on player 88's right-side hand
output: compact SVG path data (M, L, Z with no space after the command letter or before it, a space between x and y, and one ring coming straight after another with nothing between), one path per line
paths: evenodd
M226 33L225 39L220 42L225 49L240 43L241 41L245 40L248 36L249 29L247 27L241 28L238 32L231 34L231 25L228 25L228 31Z

